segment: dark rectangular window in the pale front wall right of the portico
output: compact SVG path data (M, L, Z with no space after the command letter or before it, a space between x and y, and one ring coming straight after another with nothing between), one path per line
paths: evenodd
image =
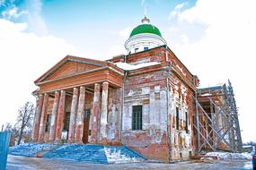
M132 130L142 130L142 106L132 106Z

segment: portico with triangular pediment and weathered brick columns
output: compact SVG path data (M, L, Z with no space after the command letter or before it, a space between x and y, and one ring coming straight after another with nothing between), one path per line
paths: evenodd
M120 128L110 124L120 121L109 114L120 118L122 76L113 64L66 56L35 81L32 141L119 144Z

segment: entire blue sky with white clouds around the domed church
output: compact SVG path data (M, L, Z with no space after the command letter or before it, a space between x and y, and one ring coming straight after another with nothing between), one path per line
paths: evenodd
M126 54L124 43L145 6L202 87L233 82L243 140L256 141L255 0L0 0L0 78L7 82L0 83L1 113L8 113L0 114L0 124L15 122L19 106L35 101L33 81L66 55Z

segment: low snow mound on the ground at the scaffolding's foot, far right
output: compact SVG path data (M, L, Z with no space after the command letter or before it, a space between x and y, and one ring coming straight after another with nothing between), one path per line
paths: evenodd
M252 153L229 153L229 152L208 152L206 156L218 157L220 159L252 159Z

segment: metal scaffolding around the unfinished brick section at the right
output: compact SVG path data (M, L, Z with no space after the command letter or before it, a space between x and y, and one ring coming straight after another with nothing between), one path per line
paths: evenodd
M198 89L193 127L197 133L197 151L226 150L242 152L234 90L230 81L215 87Z

